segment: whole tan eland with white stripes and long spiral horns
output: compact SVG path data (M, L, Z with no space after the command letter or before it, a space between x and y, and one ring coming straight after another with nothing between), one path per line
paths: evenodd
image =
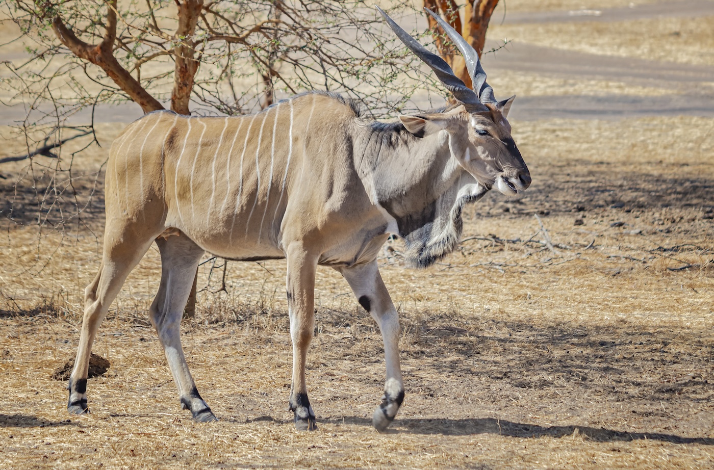
M472 90L380 12L433 69L455 106L380 123L340 96L313 92L251 116L157 111L116 139L106 170L104 252L85 290L69 412L88 412L91 344L126 276L156 242L161 284L151 322L181 407L193 419L216 419L188 372L179 337L196 266L208 251L231 260L286 258L293 342L289 403L298 429L315 428L305 364L316 267L338 270L381 329L386 382L373 425L382 431L392 422L404 387L397 312L377 267L380 247L389 235L399 235L411 265L431 265L456 247L464 204L493 187L516 194L528 188L531 176L506 121L513 98L494 99L476 51L435 16L466 58Z

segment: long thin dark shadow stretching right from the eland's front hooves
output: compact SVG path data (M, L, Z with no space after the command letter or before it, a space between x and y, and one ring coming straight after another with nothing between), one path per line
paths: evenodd
M372 426L371 419L361 417L344 417L326 419L330 424L354 424L356 426ZM318 423L319 424L319 423ZM443 434L444 436L471 436L474 434L498 434L499 436L535 439L540 437L565 437L579 435L595 442L630 442L638 440L656 440L672 444L703 444L714 445L714 438L684 437L676 434L658 432L629 432L615 429L594 428L590 426L539 426L538 424L514 423L504 419L473 418L473 419L397 419L392 427L387 429L392 434Z

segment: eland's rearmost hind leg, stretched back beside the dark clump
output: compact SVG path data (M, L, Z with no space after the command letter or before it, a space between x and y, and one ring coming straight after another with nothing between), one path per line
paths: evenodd
M120 225L116 227L114 225ZM104 234L104 253L99 272L84 290L84 319L79 337L79 348L74 369L69 376L69 401L71 414L89 413L87 407L87 374L89 354L101 321L106 317L109 305L114 302L124 285L129 272L139 264L141 257L156 236L148 230L136 230L131 223L111 225L107 223Z

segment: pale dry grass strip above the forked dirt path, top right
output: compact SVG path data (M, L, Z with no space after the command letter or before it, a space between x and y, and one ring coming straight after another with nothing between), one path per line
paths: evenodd
M652 61L714 65L714 16L623 22L491 24L491 39ZM567 41L564 38L575 38Z

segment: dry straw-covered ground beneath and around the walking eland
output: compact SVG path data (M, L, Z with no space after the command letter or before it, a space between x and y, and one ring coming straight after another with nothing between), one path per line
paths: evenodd
M496 91L547 92L519 81ZM92 414L66 414L65 383L50 376L76 350L101 251L101 163L120 130L100 125L103 147L71 173L67 157L87 141L59 163L0 168L0 210L13 218L0 240L0 468L714 468L713 119L513 122L531 189L470 206L460 249L429 270L404 267L399 242L381 256L407 388L387 434L370 422L381 339L327 269L308 364L320 429L293 431L281 261L231 262L219 292L221 262L211 270L206 257L183 344L221 421L191 422L146 315L154 249L102 325L94 352L111 368L89 380ZM24 152L8 128L0 138L4 153ZM57 199L45 197L53 174ZM51 205L41 230L38 200Z

